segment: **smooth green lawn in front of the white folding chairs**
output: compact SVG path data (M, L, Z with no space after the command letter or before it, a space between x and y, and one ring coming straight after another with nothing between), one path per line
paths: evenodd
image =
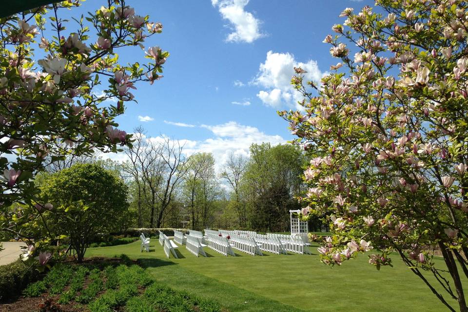
M140 253L139 245L90 248L86 256L127 254L157 281L215 299L232 312L447 311L396 255L393 268L377 271L366 255L331 269L320 263L316 248L313 255L254 257L238 251L225 257L205 248L209 257L197 258L183 246L179 259L167 259L156 238L150 253Z

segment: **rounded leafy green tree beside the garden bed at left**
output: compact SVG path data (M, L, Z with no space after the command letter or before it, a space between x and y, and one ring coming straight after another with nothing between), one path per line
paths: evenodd
M121 230L127 219L127 186L98 164L77 164L48 176L41 197L54 211L44 213L51 236L65 234L81 262L97 234Z

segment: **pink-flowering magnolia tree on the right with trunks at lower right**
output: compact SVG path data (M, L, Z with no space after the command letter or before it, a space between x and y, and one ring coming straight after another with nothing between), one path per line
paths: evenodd
M396 252L450 311L466 312L468 4L376 5L385 13L347 8L332 27L324 42L340 62L320 87L295 69L303 110L280 115L311 155L301 217L330 221L322 262L369 252L379 269Z

